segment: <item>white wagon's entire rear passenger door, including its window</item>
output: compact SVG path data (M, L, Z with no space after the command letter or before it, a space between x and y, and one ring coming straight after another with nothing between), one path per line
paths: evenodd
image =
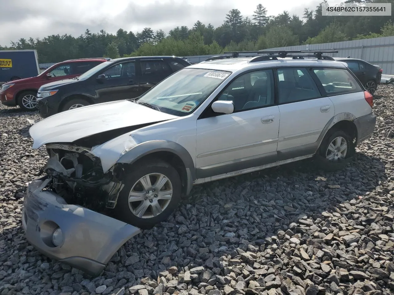
M322 96L307 68L280 68L276 76L281 114L278 152L284 158L314 153L313 144L334 116L334 105Z

